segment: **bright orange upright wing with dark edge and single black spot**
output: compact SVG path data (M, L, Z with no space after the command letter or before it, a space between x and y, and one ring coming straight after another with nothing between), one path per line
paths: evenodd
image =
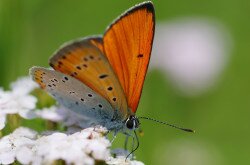
M104 52L136 112L150 60L155 15L151 2L128 10L104 34Z

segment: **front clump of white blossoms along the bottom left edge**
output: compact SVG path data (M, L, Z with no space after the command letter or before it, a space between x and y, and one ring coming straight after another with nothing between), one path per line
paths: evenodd
M110 157L110 142L103 136L105 128L88 128L71 135L52 133L38 137L37 132L18 128L0 140L0 164L18 160L22 164L95 164Z

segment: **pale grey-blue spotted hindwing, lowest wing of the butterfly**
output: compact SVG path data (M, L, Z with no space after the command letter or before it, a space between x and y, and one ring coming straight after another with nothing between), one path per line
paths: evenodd
M77 79L42 67L31 68L30 74L60 104L72 111L96 121L113 117L114 110L109 102Z

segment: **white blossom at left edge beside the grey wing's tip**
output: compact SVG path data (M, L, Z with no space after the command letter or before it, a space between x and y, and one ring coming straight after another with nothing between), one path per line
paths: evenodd
M11 91L0 89L0 129L5 126L7 114L22 116L24 112L36 107L37 99L29 94L36 87L36 83L31 78L24 77L11 84Z

